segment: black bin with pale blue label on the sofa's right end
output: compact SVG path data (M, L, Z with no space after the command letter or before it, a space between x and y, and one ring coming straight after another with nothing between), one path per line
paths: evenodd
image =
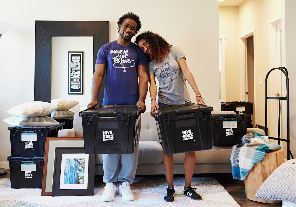
M212 114L213 145L233 146L242 143L247 133L249 114Z

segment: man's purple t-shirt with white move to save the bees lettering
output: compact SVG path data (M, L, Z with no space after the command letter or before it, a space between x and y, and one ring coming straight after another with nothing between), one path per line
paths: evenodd
M106 65L103 105L136 105L139 101L138 66L148 66L148 56L135 44L116 41L103 45L96 64Z

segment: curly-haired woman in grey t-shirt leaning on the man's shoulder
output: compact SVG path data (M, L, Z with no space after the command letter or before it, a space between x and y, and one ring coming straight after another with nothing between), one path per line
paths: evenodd
M151 31L146 31L137 36L135 43L144 53L149 56L149 92L151 97L150 114L159 107L191 104L190 95L186 87L186 80L196 94L196 103L205 104L189 71L185 55L180 48L170 45L160 35ZM157 86L155 77L158 79L158 103L156 102ZM163 154L163 165L165 178L168 183L165 201L174 200L174 158L173 155ZM185 185L184 195L194 200L201 200L196 188L191 187L193 169L195 165L195 152L186 152L184 159Z

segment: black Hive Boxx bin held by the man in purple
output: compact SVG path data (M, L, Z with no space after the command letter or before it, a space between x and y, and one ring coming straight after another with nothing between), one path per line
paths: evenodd
M86 154L131 154L139 139L136 105L103 105L79 112Z

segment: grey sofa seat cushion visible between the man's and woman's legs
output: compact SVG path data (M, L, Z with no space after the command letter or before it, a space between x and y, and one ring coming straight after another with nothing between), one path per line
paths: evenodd
M139 164L158 164L163 161L163 149L157 141L139 142Z

